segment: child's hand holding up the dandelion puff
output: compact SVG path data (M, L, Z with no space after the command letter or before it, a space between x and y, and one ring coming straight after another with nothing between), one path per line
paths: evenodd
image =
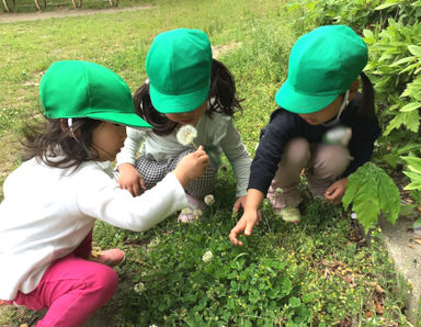
M203 176L208 166L209 157L203 146L200 146L196 151L181 159L172 173L175 174L183 188L186 188L192 180Z

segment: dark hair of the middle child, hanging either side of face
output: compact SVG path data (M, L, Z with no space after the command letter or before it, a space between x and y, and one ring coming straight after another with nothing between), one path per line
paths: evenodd
M206 114L218 112L232 116L237 110L242 111L241 100L236 98L236 82L229 69L223 63L213 59L208 94L209 109ZM177 123L153 108L149 94L149 83L145 83L136 90L134 101L136 113L152 125L153 133L168 135L177 127Z

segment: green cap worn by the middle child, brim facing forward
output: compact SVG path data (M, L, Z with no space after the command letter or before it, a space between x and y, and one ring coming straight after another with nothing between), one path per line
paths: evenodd
M209 93L212 48L206 33L179 29L158 34L146 57L150 99L161 113L197 109Z

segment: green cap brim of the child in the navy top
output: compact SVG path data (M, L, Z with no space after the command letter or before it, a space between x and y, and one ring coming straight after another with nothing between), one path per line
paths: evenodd
M338 97L339 94L320 97L303 94L291 88L286 80L277 91L275 101L283 109L294 113L314 113L328 106Z

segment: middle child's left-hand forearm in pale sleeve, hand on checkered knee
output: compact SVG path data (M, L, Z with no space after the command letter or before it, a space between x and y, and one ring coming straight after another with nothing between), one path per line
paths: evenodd
M145 139L146 132L127 127L127 137L121 153L117 155L118 185L132 193L133 196L140 195L146 189L140 173L134 164L140 143Z

